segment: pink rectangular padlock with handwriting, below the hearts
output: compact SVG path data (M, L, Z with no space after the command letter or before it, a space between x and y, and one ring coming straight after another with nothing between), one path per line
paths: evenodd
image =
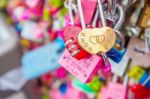
M77 60L65 50L59 60L66 70L78 78L81 82L89 82L103 65L103 59L97 55L92 55L89 58Z

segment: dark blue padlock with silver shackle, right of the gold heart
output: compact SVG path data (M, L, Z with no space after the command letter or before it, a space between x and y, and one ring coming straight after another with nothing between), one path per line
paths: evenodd
M124 48L124 36L118 31L124 22L124 12L120 5L117 5L117 9L120 14L120 18L118 19L118 22L115 23L114 29L116 34L119 36L119 39L116 40L114 47L107 53L107 56L113 61L119 63L127 52L127 49Z

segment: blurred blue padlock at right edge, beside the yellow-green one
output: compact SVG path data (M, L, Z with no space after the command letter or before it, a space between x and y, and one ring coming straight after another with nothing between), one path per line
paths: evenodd
M139 83L143 84L147 88L150 88L150 74L145 71L140 78Z

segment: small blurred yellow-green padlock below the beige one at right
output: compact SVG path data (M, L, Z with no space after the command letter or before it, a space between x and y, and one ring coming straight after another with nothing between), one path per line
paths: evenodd
M128 76L134 78L136 81L139 81L142 75L144 74L144 70L139 66L134 66L132 70L129 71Z

